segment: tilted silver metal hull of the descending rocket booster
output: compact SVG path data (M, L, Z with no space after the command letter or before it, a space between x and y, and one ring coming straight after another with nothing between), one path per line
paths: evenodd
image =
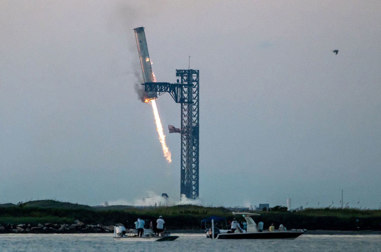
M148 54L146 34L144 33L144 27L138 27L134 29L136 45L138 46L140 65L142 68L144 82L156 82L154 73L152 72L151 60ZM146 92L147 98L157 98L156 92Z

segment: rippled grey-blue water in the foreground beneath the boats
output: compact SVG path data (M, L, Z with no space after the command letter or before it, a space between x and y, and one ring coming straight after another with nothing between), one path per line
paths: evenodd
M302 235L295 240L211 240L178 235L170 242L114 241L110 234L5 234L1 252L380 252L381 235Z

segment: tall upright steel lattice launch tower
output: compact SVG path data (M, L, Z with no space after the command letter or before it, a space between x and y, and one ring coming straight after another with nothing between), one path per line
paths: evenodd
M199 197L199 70L176 70L182 86L180 194Z

